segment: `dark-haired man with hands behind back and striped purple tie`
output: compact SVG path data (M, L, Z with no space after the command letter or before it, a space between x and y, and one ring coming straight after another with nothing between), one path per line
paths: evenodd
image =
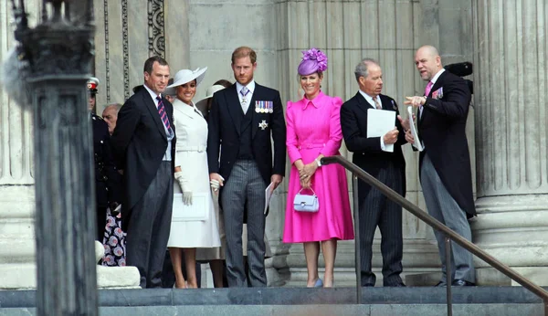
M121 224L127 232L127 265L139 269L142 288L162 286L171 227L174 110L162 96L168 79L169 66L163 58L144 62L143 88L121 107L111 140L123 174Z

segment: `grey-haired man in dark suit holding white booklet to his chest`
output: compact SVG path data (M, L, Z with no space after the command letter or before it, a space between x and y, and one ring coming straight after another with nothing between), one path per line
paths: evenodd
M394 99L381 94L383 72L374 59L364 58L356 66L354 74L360 90L351 100L342 104L341 127L344 143L353 152L353 163L398 194L406 195L406 161L401 149L406 140L400 122L395 120L395 128L386 132L383 137L367 137L367 111L395 111L397 115L397 104ZM390 145L393 145L393 152L389 151ZM358 196L362 286L372 287L376 280L371 271L371 259L377 226L382 235L383 284L390 287L405 286L400 278L403 255L401 206L363 181L358 183Z

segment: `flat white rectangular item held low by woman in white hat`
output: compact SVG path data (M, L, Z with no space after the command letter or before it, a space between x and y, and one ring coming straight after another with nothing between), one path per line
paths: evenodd
M183 194L174 194L174 222L188 222L207 219L209 210L209 196L205 193L192 195L192 205L184 205Z

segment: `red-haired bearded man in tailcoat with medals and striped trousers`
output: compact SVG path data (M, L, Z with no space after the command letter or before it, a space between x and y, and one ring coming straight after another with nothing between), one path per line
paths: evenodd
M237 82L213 96L209 114L207 160L212 186L220 188L227 234L227 279L230 287L248 285L242 254L242 226L247 207L249 279L266 287L265 189L274 190L285 172L286 129L279 92L253 80L257 54L249 47L232 53ZM274 156L272 145L274 141ZM220 159L219 159L220 157Z

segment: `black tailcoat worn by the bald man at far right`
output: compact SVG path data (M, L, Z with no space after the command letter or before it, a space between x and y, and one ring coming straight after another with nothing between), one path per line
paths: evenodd
M434 94L436 98L432 98ZM446 70L432 86L418 120L418 137L426 147L420 153L419 166L428 153L441 182L469 217L476 215L466 138L470 100L466 81Z

